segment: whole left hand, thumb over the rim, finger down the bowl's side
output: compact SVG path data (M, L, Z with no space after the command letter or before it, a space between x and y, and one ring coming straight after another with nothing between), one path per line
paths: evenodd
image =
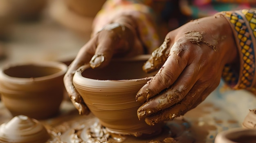
M114 56L128 57L143 53L136 24L129 17L118 18L92 36L80 49L64 76L65 88L79 114L90 112L72 82L74 73L80 66L90 63L92 68L103 67Z

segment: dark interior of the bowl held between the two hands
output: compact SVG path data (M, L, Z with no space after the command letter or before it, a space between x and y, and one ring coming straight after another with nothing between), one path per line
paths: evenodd
M143 64L147 59L142 60L112 60L104 68L88 68L82 72L82 76L98 80L129 80L151 77L156 74L145 73L142 70Z

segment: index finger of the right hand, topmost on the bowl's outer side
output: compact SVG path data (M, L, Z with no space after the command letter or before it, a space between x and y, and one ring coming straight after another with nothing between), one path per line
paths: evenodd
M137 101L143 103L147 99L164 90L166 87L171 86L180 76L189 60L186 52L184 52L183 57L180 58L183 48L183 44L173 44L170 54L162 68L160 68L153 79L151 79L139 90L139 92L137 92Z

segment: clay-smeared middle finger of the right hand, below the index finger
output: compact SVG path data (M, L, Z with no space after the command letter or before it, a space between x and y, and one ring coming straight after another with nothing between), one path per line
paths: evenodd
M155 112L159 112L160 110L164 110L180 102L198 80L198 73L201 69L200 64L201 62L199 61L196 65L191 64L187 66L170 88L144 103L137 110L139 119L145 118L150 114L154 114Z

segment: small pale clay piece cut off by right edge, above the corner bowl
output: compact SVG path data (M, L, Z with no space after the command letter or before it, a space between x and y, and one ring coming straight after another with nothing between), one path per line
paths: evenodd
M242 123L242 127L245 129L256 129L256 109L249 110Z

